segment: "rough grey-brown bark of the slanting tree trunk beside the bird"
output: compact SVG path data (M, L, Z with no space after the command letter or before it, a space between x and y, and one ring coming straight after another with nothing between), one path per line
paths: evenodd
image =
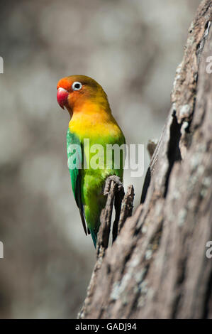
M189 28L142 204L97 257L79 318L212 318L211 21L212 4L204 0Z

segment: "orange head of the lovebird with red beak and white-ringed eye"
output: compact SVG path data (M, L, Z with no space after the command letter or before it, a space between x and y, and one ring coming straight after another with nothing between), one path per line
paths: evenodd
M62 109L68 110L71 117L86 105L91 109L95 105L108 108L108 99L101 85L85 75L70 75L60 79L57 83L57 102Z

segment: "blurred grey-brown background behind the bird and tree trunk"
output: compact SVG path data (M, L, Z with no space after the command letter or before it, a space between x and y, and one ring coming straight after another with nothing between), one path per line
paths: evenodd
M57 81L94 77L126 141L160 136L199 0L0 4L0 318L76 318L95 261L67 169ZM149 163L145 151L145 169ZM143 178L135 185L135 207Z

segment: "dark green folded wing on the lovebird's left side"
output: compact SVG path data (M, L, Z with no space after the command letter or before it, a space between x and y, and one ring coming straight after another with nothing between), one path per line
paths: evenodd
M71 131L67 131L67 158L69 173L72 181L72 190L77 206L79 208L80 216L82 219L82 225L84 232L87 235L87 228L84 219L84 208L82 203L82 190L81 190L81 170L82 170L82 145L76 134L72 134Z

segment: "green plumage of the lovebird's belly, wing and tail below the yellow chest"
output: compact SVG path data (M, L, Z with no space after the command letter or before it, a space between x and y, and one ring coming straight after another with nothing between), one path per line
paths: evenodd
M77 202L79 212L82 218L82 224L84 231L87 234L87 228L85 222L87 222L88 233L91 233L91 237L96 247L97 233L100 225L101 210L106 205L106 196L103 195L103 188L106 178L110 175L116 175L123 179L123 166L121 163L120 168L114 166L114 156L112 157L112 168L106 168L106 162L103 168L83 168L83 157L86 160L89 157L91 160L92 153L89 153L90 146L93 144L101 144L104 146L104 154L106 155L106 144L125 144L125 138L120 132L118 137L115 136L97 136L96 138L90 138L89 146L83 146L84 138L80 138L77 134L73 134L71 131L67 131L67 156L69 159L69 172L72 181L72 190L74 198ZM71 145L77 144L77 156L76 152L71 151ZM80 149L81 148L81 149ZM75 153L75 159L73 160L72 154ZM105 156L106 161L106 156ZM121 152L122 161L122 152ZM74 168L82 166L82 168Z

